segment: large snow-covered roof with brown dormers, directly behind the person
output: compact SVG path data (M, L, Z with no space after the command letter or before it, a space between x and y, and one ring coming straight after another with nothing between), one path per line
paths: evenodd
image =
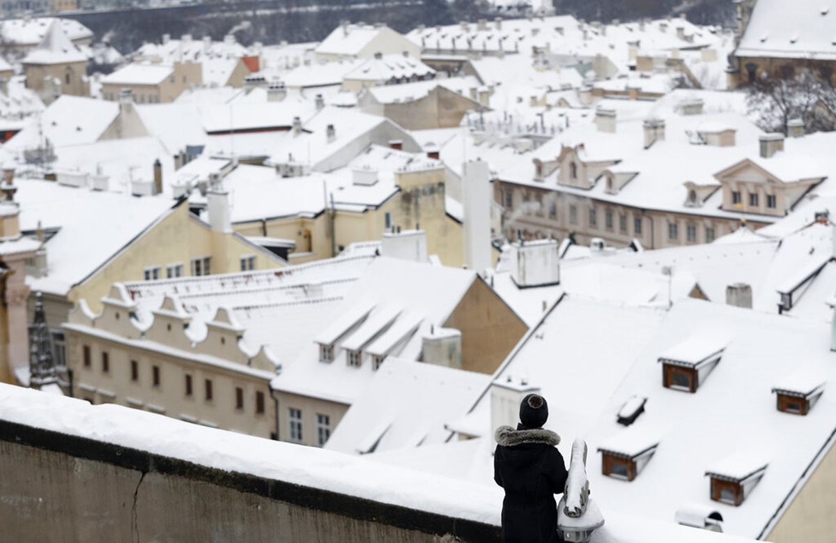
M701 382L695 393L663 387L658 357L706 325L735 337L711 379ZM806 417L778 412L772 387L785 375L788 360L801 371L832 377L830 335L826 322L701 300L679 300L664 311L569 295L529 332L494 378L524 376L541 388L549 402L546 426L563 435L559 448L564 456L574 436L583 436L591 449L613 440L618 444L624 427L617 413L624 401L646 397L645 412L628 428L629 435L654 438L631 444L658 438L658 446L636 479L624 483L606 477L601 456L588 458L590 488L602 509L670 521L683 504L711 504L721 512L727 533L763 537L780 519L797 485L814 473L810 466L828 452L822 446L833 443L831 421L836 415L836 400L826 391ZM487 391L483 394L469 423L465 419L452 427L482 428L476 435L491 435L486 408L490 397ZM457 464L461 476L489 484L489 450L479 449L475 453L484 457ZM482 465L478 474L473 472L476 464ZM767 464L765 476L739 507L711 501L706 472L745 479Z

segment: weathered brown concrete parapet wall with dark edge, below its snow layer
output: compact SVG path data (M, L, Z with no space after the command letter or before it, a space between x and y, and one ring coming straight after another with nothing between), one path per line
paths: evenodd
M0 472L0 525L9 541L500 539L496 525L5 420Z

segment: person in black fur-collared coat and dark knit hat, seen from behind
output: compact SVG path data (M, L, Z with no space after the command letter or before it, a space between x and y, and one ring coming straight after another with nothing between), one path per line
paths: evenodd
M554 494L563 494L568 472L563 455L555 448L560 436L543 429L547 419L546 399L529 394L520 404L517 429L497 428L493 479L505 489L503 543L559 541Z

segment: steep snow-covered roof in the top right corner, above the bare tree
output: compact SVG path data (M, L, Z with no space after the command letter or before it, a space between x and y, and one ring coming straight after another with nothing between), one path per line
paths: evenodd
M800 0L787 9L780 0L758 0L735 56L836 59L833 18L829 3Z

